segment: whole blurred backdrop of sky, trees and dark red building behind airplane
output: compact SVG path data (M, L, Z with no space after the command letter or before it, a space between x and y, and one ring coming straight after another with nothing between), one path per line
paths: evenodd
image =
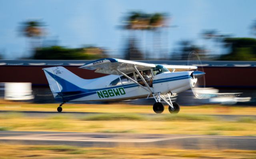
M191 99L181 100L182 104L208 103L211 97L220 98L213 93L227 92L228 99L222 96L214 101L255 104L255 3L254 0L2 1L1 98L12 98L9 90L4 96L4 83L25 82L28 86L25 92L30 93L24 100L54 102L42 68L64 66L82 78L92 79L104 75L77 67L94 59L114 57L196 65L203 69L206 87L210 87L208 100L192 102L193 95L187 91L179 96ZM188 59L191 51L196 51L202 62L191 62L198 60Z

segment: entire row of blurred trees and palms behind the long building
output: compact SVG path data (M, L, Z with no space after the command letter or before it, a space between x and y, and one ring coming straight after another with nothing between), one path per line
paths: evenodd
M231 37L228 34L218 33L214 29L203 30L200 35L205 41L215 43L217 45L215 48L226 48L228 53L214 55L214 51L207 49L206 45L195 45L191 40L182 40L178 42L178 49L174 49L169 55L167 50L161 48L163 45L162 35L168 34L168 32L163 32L164 28L169 27L167 21L170 17L167 14L129 12L122 19L121 28L129 32L124 59L187 60L189 53L196 51L203 60L256 61L255 38ZM58 45L43 46L42 37L46 34L44 26L40 20L26 21L20 26L20 33L29 39L29 51L32 55L29 57L30 59L91 60L108 57L104 49L95 46L80 48L67 48ZM256 35L256 21L254 21L251 30ZM152 35L150 39L146 37L146 33ZM142 45L142 41L144 41L144 45ZM146 45L148 41L152 41L150 46ZM221 50L217 51L220 52Z

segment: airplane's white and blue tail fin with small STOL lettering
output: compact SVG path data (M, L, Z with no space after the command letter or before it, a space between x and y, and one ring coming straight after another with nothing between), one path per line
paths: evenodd
M80 91L82 88L78 84L86 81L61 66L48 67L43 70L52 93Z

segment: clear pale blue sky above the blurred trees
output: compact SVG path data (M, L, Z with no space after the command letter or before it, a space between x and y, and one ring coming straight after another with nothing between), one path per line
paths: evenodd
M255 0L0 0L0 52L6 59L28 55L28 39L18 33L21 22L40 19L47 36L59 45L81 47L92 44L118 55L128 31L118 29L129 11L165 12L171 15L167 52L183 39L201 45L202 29L217 29L235 37L253 37ZM150 45L147 44L147 45Z

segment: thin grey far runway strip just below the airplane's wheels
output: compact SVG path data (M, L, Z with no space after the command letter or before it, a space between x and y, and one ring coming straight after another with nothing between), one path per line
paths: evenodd
M45 116L55 116L55 115L67 115L67 116L89 116L92 114L111 114L111 113L96 113L96 112L47 112L47 111L9 111L9 110L0 110L1 113L22 113L25 116L28 117L45 117ZM150 114L142 114L142 115L147 115L147 116L154 116L154 115L159 115L155 113L150 113ZM204 114L202 114L204 115ZM206 116L213 116L220 118L222 120L228 120L228 121L235 121L241 117L250 117L256 119L256 115L214 115L214 114L207 114Z

